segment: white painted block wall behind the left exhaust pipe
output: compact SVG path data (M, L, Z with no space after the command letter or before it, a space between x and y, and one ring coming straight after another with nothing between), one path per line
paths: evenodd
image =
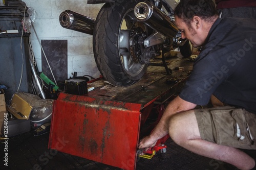
M41 71L41 40L68 40L68 78L76 71L77 76L90 75L98 78L100 73L93 56L92 36L62 28L59 14L67 9L96 18L102 4L89 5L86 0L23 0L37 15L31 28L30 41L38 69ZM42 56L44 57L44 56Z

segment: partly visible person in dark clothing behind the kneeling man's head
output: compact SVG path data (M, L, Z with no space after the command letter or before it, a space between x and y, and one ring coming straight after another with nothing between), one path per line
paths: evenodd
M220 17L256 19L255 0L215 0Z

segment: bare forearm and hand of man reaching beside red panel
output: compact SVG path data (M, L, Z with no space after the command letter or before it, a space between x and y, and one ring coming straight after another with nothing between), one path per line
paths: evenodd
M172 115L183 111L194 109L197 105L184 101L179 96L169 103L165 109L163 116L153 132L144 137L139 143L139 149L145 148L146 150L150 147L154 147L157 140L168 134L168 122Z

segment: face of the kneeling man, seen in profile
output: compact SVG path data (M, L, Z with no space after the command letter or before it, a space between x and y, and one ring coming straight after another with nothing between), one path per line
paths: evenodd
M178 29L181 31L182 39L185 39L185 38L188 39L194 47L198 47L203 44L204 41L202 41L201 39L202 37L199 36L200 34L197 28L195 27L195 25L191 24L190 26L188 26L183 21L183 19L177 16L175 17L175 22Z

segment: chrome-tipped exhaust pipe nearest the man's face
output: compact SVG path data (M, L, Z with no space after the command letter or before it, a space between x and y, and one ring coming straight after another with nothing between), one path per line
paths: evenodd
M138 21L144 22L148 27L165 36L173 38L179 31L174 21L148 1L138 3L134 8L134 14Z

